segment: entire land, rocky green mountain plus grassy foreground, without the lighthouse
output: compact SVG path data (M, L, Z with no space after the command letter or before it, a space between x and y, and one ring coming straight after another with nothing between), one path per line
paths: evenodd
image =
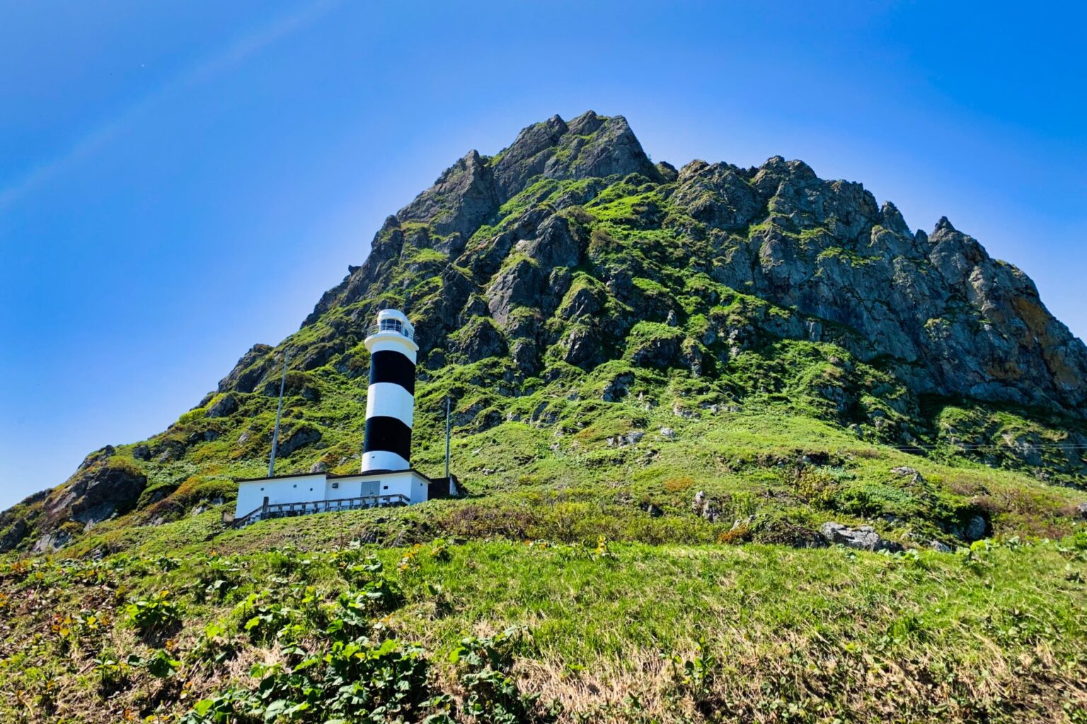
M375 314L467 494L358 469ZM242 511L245 512L245 511ZM1087 721L1087 347L946 218L591 112L471 152L301 329L0 513L0 719ZM150 717L150 719L148 719Z

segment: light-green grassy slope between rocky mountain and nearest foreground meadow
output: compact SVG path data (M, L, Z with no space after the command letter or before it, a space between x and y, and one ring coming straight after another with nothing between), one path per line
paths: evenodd
M837 520L874 524L907 545L938 539L953 547L957 541L946 529L977 513L991 519L997 535L1065 535L1074 524L1072 507L1083 499L1075 488L961 460L937 462L799 416L749 411L688 419L666 405L605 407L614 410L592 409L584 428L577 408L567 410L576 432L559 437L514 421L459 437L453 470L468 481L466 499L341 513L335 521L271 521L227 533L218 528L217 513L163 525L148 524L150 516L128 517L92 529L66 555L168 552L214 535L222 549L238 551L270 544L316 549L352 537L387 545L438 536L574 543L603 533L613 541L713 543L739 519L750 519L740 541L788 542L774 536L788 526L812 530ZM671 427L672 437L660 434L663 427ZM632 429L646 436L622 447L607 443ZM437 469L440 455L437 445L424 447L416 462ZM901 467L917 470L922 480L894 472ZM720 511L713 522L691 512L700 490ZM648 515L650 505L663 515Z

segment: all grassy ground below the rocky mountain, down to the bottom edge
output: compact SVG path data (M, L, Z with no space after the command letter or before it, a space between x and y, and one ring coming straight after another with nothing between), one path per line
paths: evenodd
M464 719L473 694L482 696L479 685L470 664L452 664L449 652L464 636L486 639L510 625L526 634L510 648L513 662L502 675L522 694L540 695L529 707L536 717L1042 722L1085 715L1087 558L1075 550L1076 538L1032 537L1083 530L1067 515L1078 491L919 458L809 418L748 411L688 419L663 407L640 412L647 436L624 447L594 441L627 432L630 410L561 436L557 450L551 431L522 422L465 435L457 459L474 487L462 500L274 520L240 531L223 531L217 509L158 525L122 519L90 531L64 558L11 559L0 582L0 674L9 702L0 719L113 722L128 712L168 722L196 701L227 707L224 691L236 711L297 703L302 695L283 683L289 675L252 665L278 662L289 671L305 659L289 653L292 643L333 656L336 636L326 632L341 615L337 596L372 588L350 570L371 552L403 598L367 610L367 623L352 636L396 640L402 645L396 650L420 644L421 690L455 702L425 711L416 702L409 720L451 706ZM674 439L660 436L665 423ZM537 457L527 454L533 450ZM428 460L436 452L422 455ZM891 472L903 465L917 469L924 484ZM719 521L690 510L697 490L717 501ZM663 515L647 513L647 503ZM926 550L930 536L952 542L936 522L960 507L986 510L1005 543L982 542L955 555ZM901 520L878 517L894 513ZM734 519L750 515L750 535L735 536ZM889 557L716 543L774 539L788 530L782 525L810 530L827 519L871 520L919 549ZM451 545L437 543L441 536ZM1079 534L1080 546L1085 537ZM360 539L384 545L358 548ZM93 562L91 554L102 552L109 555ZM226 581L223 597L209 599L204 588L218 580ZM308 594L309 585L315 590ZM127 607L162 589L171 592L184 624L140 636ZM250 594L257 600L245 609ZM287 610L272 610L276 605ZM91 615L98 621L87 624ZM247 630L255 615L272 617L271 627ZM210 642L209 624L223 626ZM179 662L168 678L139 661L95 662L125 662L130 655L147 662L159 650ZM211 650L235 653L215 663ZM321 677L332 665L304 671ZM260 690L262 679L275 694L253 704L246 693ZM317 683L315 691L329 688L323 678ZM325 721L328 712L317 704L332 706L335 696L311 697L316 708L300 712L299 721ZM516 700L488 700L492 716L529 717ZM189 722L214 721L188 715Z

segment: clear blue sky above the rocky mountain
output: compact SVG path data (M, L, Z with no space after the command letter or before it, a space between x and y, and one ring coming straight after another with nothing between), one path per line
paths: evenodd
M1087 334L1073 3L0 0L0 508L297 329L468 149L623 114L941 215Z

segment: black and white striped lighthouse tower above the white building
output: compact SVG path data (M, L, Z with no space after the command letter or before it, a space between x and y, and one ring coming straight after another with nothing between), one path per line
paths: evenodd
M370 352L362 472L408 470L415 410L415 328L404 313L382 309L364 343Z

